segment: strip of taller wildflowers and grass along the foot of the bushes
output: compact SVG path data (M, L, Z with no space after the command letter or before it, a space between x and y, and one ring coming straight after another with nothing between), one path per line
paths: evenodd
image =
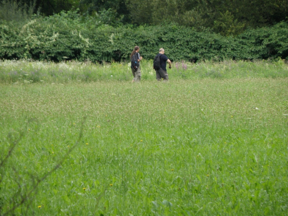
M224 61L220 63L206 62L192 64L174 62L168 69L170 79L200 79L200 78L284 78L288 77L288 65L284 60L270 61ZM155 80L152 62L141 61L142 80ZM132 80L130 63L91 62L39 62L29 60L0 61L1 83L67 83L67 82L96 82L108 80Z

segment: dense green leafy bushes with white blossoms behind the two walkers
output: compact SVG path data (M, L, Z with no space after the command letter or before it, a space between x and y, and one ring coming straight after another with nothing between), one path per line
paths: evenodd
M123 61L135 45L146 59L154 58L161 47L174 61L288 59L287 22L247 30L237 37L176 24L112 27L101 25L101 17L83 20L76 12L35 17L25 24L0 22L2 59Z

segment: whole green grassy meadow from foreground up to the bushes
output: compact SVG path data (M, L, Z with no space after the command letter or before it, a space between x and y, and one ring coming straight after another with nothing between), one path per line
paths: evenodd
M1 160L23 137L1 166L2 215L37 182L15 215L287 215L285 63L180 62L157 82L145 62L140 83L123 63L78 68L110 68L101 82L51 76L72 63L47 63L45 81L31 78L34 63L10 63L0 72Z

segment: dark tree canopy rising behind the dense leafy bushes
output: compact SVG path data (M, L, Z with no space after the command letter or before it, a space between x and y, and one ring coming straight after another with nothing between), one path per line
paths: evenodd
M209 28L225 36L270 26L288 17L288 0L0 0L2 8L8 3L26 11L33 6L34 13L44 16L79 8L83 16L106 16L107 24L172 22L197 30Z

